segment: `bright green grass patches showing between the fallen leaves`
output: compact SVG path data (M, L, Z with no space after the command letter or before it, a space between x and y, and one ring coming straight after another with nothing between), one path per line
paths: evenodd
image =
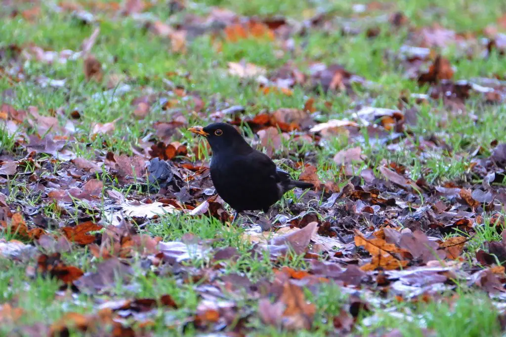
M86 5L86 2L82 3ZM179 14L171 15L168 6L164 4L164 2L159 2L149 12L170 22L182 20ZM7 76L2 76L0 77L0 92L8 89L15 90L15 95L6 99L6 103L13 105L16 109L26 110L29 106L36 106L41 115L54 116L57 115L55 111L63 108L64 118L59 117L62 121L61 126L64 125L63 120L66 120L73 111L78 111L80 119L74 121L77 130L74 134L76 141L71 143L71 147L77 156L93 159L96 158L97 153L106 152L132 155L132 145L136 145L139 139L151 133L156 134L153 123L170 121L177 110L183 112L188 124L206 122L192 113L194 104L171 93L170 97L178 100L173 110L162 110L155 105L147 118L140 121L133 118L135 108L131 103L135 98L150 91L166 93L172 90L164 79L170 80L174 86L180 85L188 90L199 92L206 107L215 105L210 108L210 112L220 110L218 107L223 104L242 105L246 107L248 115L255 115L264 110L273 111L281 107L304 107L308 95L303 89L294 89L291 96L260 93L257 84L227 75L228 62L244 60L265 67L269 71L281 67L289 60L303 70L308 69L308 60L325 64L338 63L348 71L375 82L372 90L357 87L357 100L352 100L343 93L315 95L315 106L322 111L318 117L321 121L351 118L352 111L363 102L375 107L397 109L402 93L427 93L428 91L427 87L420 87L415 81L407 79L402 65L385 58L386 52L398 53L409 35L409 30L403 27L392 33L387 23L371 24L372 21L365 18L365 15L354 11L356 4L351 2L207 0L191 4L192 6L189 6L187 11L196 14L208 13L210 6L220 6L244 15L265 17L279 14L298 20L309 19L320 11L326 11L333 13L338 20L352 21L360 27L377 26L381 33L378 37L370 39L365 30L355 35L343 35L338 30L314 29L304 36L294 37L297 48L292 55L283 52L277 42L263 39L244 39L238 43L224 42L221 51L218 51L209 35L202 35L188 40L188 52L180 55L171 52L170 41L143 29L139 22L130 17L110 20L107 14L98 13L96 14L97 22L87 25L80 23L69 13L55 13L49 5L43 4L41 14L34 22L20 17L2 17L0 48L10 44L20 46L33 44L43 47L46 51L60 52L66 49L77 51L80 49L81 42L91 35L94 28L100 28L100 35L93 53L102 63L106 78L111 74L121 74L123 80L106 90L104 83L85 81L82 59L68 60L64 64L26 61L23 64L26 79L14 83ZM412 26L422 27L437 23L448 29L455 29L457 32L474 32L478 37L488 24L496 22L500 14L506 12L501 0L486 0L479 4L470 0L446 2L398 0L392 5L408 17ZM381 11L378 13L381 14ZM455 79L496 75L504 78L506 75L506 62L497 53L492 53L488 58L473 57L471 59L462 58L461 51L457 49L444 49L442 53L452 64L457 64ZM0 60L0 66L7 66L2 62L5 61ZM42 87L36 82L40 76L65 79L65 86L62 88ZM130 85L130 90L120 94L118 91L123 84ZM326 103L331 104L331 108L328 108ZM479 123L468 116L447 116L446 108L442 103L440 105L412 103L411 107L419 111L419 121L412 128L413 133L417 136L437 135L452 149L451 153L435 150L427 157L421 158L410 148L391 151L384 146L362 143L360 146L367 157L364 165L378 167L384 160L396 162L408 168L408 174L412 179L424 177L429 183L438 184L467 177L470 165L468 154L472 149L481 146L485 153L489 153L489 145L493 140L499 143L506 141L506 132L503 128L506 123L506 106L504 105L483 105L478 100L468 101L465 109L469 113L478 115ZM118 121L112 133L100 135L92 133L93 123L108 123L115 120ZM26 122L25 124L28 126ZM28 134L35 132L35 129L36 126L26 128ZM190 155L193 154L191 148L195 145L195 139L190 133L178 131L172 140L186 143ZM329 158L340 150L357 146L349 143L349 140L346 136L338 137L328 141L322 149L317 149L315 163L318 164L318 175L322 180L343 183L340 179L339 168L329 163ZM414 141L419 142L419 139L414 139ZM13 155L15 147L16 136L10 134L5 127L0 127L0 155ZM275 151L275 157L285 156L286 150L289 150L289 157L296 160L300 155L314 149L311 149L309 145L299 146L294 139L283 140L281 149ZM37 160L41 162L44 158L39 157ZM57 172L58 163L54 164L54 171L48 171L48 175ZM26 172L34 171L30 165L27 162ZM115 188L129 194L142 193L136 187L121 186L105 172L100 174L99 179L104 181L104 186L107 188ZM37 191L30 189L26 179L0 182L0 187L9 192L10 201L24 200L32 207L39 203L40 195ZM288 194L286 198L293 200L296 196ZM76 210L79 209L79 204L76 203L74 207ZM104 204L102 203L98 208L103 210ZM41 212L56 223L68 221L68 218L61 216L62 210L57 203L43 206ZM471 251L482 248L483 243L488 240L499 239L493 230L495 227L488 226L487 221L488 219L485 220L485 226L479 227L480 229L471 240L469 246ZM237 239L237 237L242 237L244 229L224 227L213 218L166 215L157 223L148 223L144 232L152 236L161 236L164 241L180 240L186 233L193 233L204 240L219 238L220 240L213 244L214 247L234 247L239 252L238 260L229 263L225 268L226 272L243 273L252 280L266 275L272 278L273 268L289 266L304 269L306 267L302 258L295 255L278 263L274 263L268 255L262 259L252 256L249 252L251 244ZM16 237L8 232L3 232L2 235L7 240ZM93 266L87 254L86 251L75 250L68 253L64 259L85 271L92 271ZM208 259L193 259L189 263L197 267L206 267ZM118 288L114 295L125 298L156 298L163 294L170 294L181 308L174 312L175 317L180 318L186 317L187 312L193 312L197 307L198 294L195 292L194 284L178 284L172 275L157 277L153 273L137 270L134 283L137 285L135 291ZM14 301L18 307L22 308L27 314L22 317L21 324L55 321L65 312L91 313L93 311L95 303L84 295L79 295L72 301L65 301L63 306L62 300L55 296L60 285L55 280L40 276L30 279L25 275L24 265L0 258L0 303ZM339 313L340 303L343 303L345 297L346 295L340 292L339 287L329 286L320 290L317 297L312 298L318 308L315 323L317 335L326 335L333 330L330 319ZM255 307L256 304L244 302L242 305ZM392 315L392 308L405 316ZM395 304L395 307L378 306L373 317L363 317L359 320L356 332L366 336L377 331L378 328L385 331L399 328L404 335L421 336L423 335L421 328L426 327L434 329L440 336L498 335L497 315L498 311L490 300L481 294L468 292L461 294L451 305L441 304L441 302L427 305L401 302ZM156 335L167 333L166 319L161 313L156 317L153 328ZM315 335L304 331L293 334L280 331L274 327L267 327L260 321L253 321L252 324L258 331L257 335ZM12 328L12 325L0 324L2 333L8 334ZM191 328L183 330L174 327L171 333L192 335L196 332Z

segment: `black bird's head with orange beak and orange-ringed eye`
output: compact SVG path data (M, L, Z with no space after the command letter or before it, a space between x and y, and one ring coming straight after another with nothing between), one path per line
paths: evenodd
M213 123L205 127L194 126L188 130L204 136L209 142L213 154L224 150L251 149L241 134L227 123Z

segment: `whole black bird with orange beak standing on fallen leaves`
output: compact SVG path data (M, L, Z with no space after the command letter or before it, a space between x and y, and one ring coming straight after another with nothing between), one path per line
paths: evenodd
M213 123L188 129L207 138L213 158L211 179L220 197L236 213L263 210L264 213L290 189L311 188L312 183L292 180L265 154L249 146L230 124Z

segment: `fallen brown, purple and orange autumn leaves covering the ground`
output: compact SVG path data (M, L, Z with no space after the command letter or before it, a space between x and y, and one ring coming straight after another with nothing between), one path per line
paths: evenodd
M296 52L291 46L293 37L304 37L308 31L339 27L343 34L359 34L363 28L324 14L294 22L244 17L212 8L206 17L199 17L186 12L187 4L179 1L171 2L171 6L186 17L183 23L173 25L142 16L153 6L150 2L134 0L116 5L93 2L88 12L78 4L60 4L58 11L87 18L87 24L103 13L115 13L111 20L131 17L149 34L168 39L167 50L174 54L188 53L192 40L208 35L217 51L224 45L254 41L272 43L279 55L285 55ZM363 10L373 9L371 5ZM362 11L359 7L356 10ZM40 8L21 15L33 21L41 15ZM389 16L388 22L389 33L409 25L400 12ZM375 24L371 20L366 29L368 38L376 38L385 29ZM113 74L106 71L109 61L91 53L99 34L95 29L76 52L51 51L32 44L11 45L9 50L2 47L0 56L6 62L0 71L13 83L67 88L69 79L32 78L25 74L20 61L52 66L80 60L83 78L100 88L93 99L125 100L130 85L136 84L114 84ZM373 107L372 102L360 97L359 92L375 94L381 90L377 83L345 65L317 60L306 60L304 67L286 62L272 69L241 59L228 61L226 69L221 69L224 76L236 78L242 86L252 85L266 97L293 97L302 92L305 103L296 108L271 110L254 104L241 106L233 100L232 105L213 102L214 98L190 90L193 85L173 85L167 80L168 90L143 93L129 102L132 118L153 122L153 133L137 139L130 152L112 153L104 146L88 158L83 158L82 152L77 154L74 146L81 143L89 147L79 138L77 129L82 121L77 110L71 114L65 112L66 107L62 107L63 112L46 111L43 106L24 110L12 102L2 102L0 122L16 138L13 149L3 150L0 159L0 226L4 233L0 256L25 266L30 279L56 279L59 291L87 294L94 301L92 313L68 312L60 320L45 322L40 331L49 335L68 334L72 329L97 335L105 331L117 336L149 335L159 313L169 314L165 317L167 325L191 324L199 332L228 329L244 335L251 329L248 322L256 319L279 329L315 331L318 301L305 290L318 294L323 285L336 284L349 296L331 317L332 324L336 333L349 334L360 315L374 313L399 299L438 301L443 293L456 293L459 282L490 296L503 293L506 234L502 212L506 191L501 184L506 145L496 141L486 145L486 150L467 154L466 179L446 182L426 180L424 174L430 172L417 177L401 163L386 159L371 162L364 153L364 147L385 146L392 151L407 149L423 159L462 159L463 155L453 153L442 137L416 134L413 126L420 115L418 104L427 105L431 113L444 114L446 119L464 113L478 123L480 116L466 111L467 102L504 103L503 80L457 80L459 65L444 56L448 48L466 58L504 53L503 34L491 32L485 44L474 35L438 25L411 27L400 51L387 50L385 58L403 69L408 80L428 89L426 93L403 94L396 109ZM357 104L346 111L346 118L333 118L328 114L332 103L325 101L329 94L345 95ZM156 120L157 109L164 111L164 119ZM181 113L184 110L191 111L191 118ZM251 115L251 110L259 113ZM194 118L227 121L241 131L247 126L252 144L280 164L300 171L299 179L316 186L304 195L296 191L293 200L283 207L276 205L273 213L267 214L267 221L272 222L269 230L263 230L260 219L248 219L243 225L250 228L235 238L249 245L251 259L269 261L273 269L269 276L230 272L240 254L230 244L223 246L221 234L202 239L198 233L187 233L178 240L165 240L145 230L165 225L167 215L180 217L183 222L211 219L218 221L223 231L231 230L230 212L210 181L208 149L198 148L181 136ZM91 139L107 139L123 123L122 118L91 121ZM333 148L326 158L338 167L335 173L318 162L316 149L328 150L329 141L342 136L350 146ZM286 149L284 144L291 141L293 147ZM285 160L287 157L291 159ZM334 181L328 180L329 175ZM37 203L19 198L6 187L9 181L25 184L27 196L36 197ZM125 190L125 185L135 188ZM44 204L59 213L57 223L43 210ZM485 228L485 218L493 236L473 249L474 238ZM68 252L82 254L92 267L69 262ZM297 258L302 267L284 265ZM195 261L201 263L194 265ZM178 284L195 287L198 303L184 311L184 319L170 317L181 306L180 299L172 294L157 298L115 295L118 285L135 294L140 286L136 272L147 275L148 270L154 277L172 275ZM383 298L374 294L376 290ZM243 301L245 306L241 306ZM20 319L23 309L15 305L15 301L3 305L0 321Z

